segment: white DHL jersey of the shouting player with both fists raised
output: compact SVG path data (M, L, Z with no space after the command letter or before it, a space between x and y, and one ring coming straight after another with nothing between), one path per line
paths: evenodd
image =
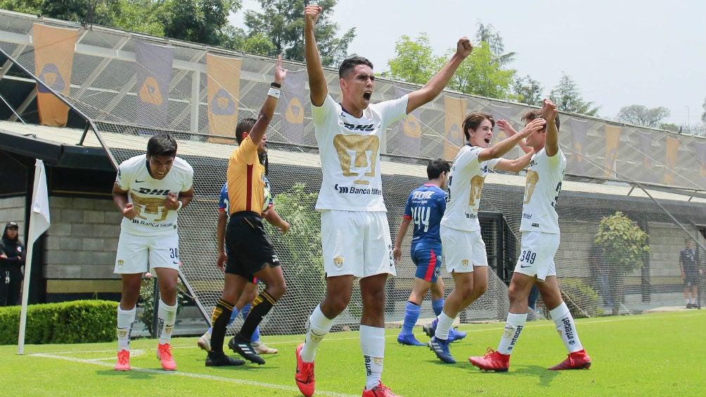
M380 148L385 129L406 112L407 95L370 104L361 118L343 111L330 94L311 106L323 173L316 209L387 211Z

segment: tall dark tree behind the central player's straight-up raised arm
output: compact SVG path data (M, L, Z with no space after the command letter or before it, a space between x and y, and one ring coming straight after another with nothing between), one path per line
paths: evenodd
M246 11L244 23L249 32L248 37L263 35L274 44L273 51L266 56L283 54L292 61L304 61L304 7L309 0L259 0L262 13ZM355 28L335 37L338 25L328 21L327 16L333 13L336 0L321 0L323 8L316 23L316 44L321 53L323 66L337 65L348 56L348 44L355 38Z

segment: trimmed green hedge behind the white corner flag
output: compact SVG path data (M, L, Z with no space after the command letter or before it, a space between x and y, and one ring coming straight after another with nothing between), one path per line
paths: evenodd
M25 343L93 343L116 340L118 303L75 300L27 307ZM20 306L0 307L0 345L15 345L20 333Z

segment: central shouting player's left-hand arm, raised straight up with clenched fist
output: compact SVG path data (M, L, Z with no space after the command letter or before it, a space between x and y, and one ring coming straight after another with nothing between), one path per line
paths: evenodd
M318 52L314 35L314 25L316 25L321 11L323 8L316 4L304 8L304 58L306 59L306 73L309 74L311 104L317 107L323 104L328 94L328 85L321 66L321 54Z

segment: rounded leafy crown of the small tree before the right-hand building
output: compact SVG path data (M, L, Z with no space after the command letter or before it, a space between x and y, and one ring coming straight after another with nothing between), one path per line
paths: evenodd
M647 237L645 231L618 211L601 219L595 243L602 248L604 261L624 275L644 265L644 257L650 253Z

